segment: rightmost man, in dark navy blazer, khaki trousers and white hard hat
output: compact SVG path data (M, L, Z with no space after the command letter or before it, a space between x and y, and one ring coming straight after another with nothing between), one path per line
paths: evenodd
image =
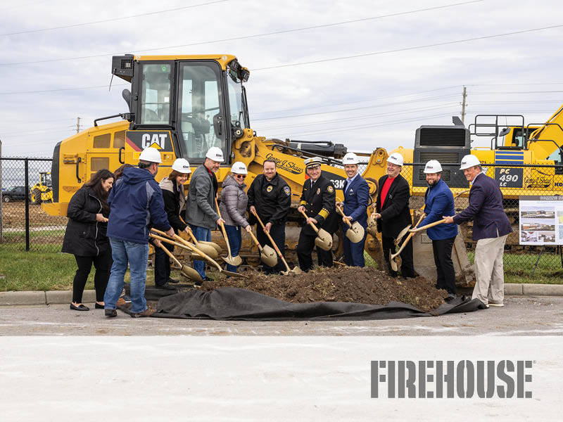
M469 191L469 207L455 217L444 217L445 222L461 224L473 219L475 248L475 288L473 298L486 307L502 307L505 298L505 274L502 255L508 234L512 231L502 207L502 192L495 179L481 170L481 162L475 155L465 155L460 170L472 183Z

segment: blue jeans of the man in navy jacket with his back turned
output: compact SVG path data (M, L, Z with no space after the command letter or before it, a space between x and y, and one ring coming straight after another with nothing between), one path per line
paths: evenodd
M115 309L115 304L123 289L123 277L127 271L129 262L129 273L131 276L131 312L138 314L146 309L145 281L146 262L148 260L148 245L144 243L133 243L110 238L111 266L110 279L103 296L106 309Z

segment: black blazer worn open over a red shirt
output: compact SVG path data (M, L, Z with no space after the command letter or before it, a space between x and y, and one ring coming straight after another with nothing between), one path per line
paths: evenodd
M377 190L377 203L375 205L376 212L381 214L381 218L377 219L377 231L382 236L388 238L396 238L401 230L412 224L409 210L410 188L409 182L400 174L393 180L391 187L384 198L384 205L381 207L381 188L388 175L379 179L379 188Z

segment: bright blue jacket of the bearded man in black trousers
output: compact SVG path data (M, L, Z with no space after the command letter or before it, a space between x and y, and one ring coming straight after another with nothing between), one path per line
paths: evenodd
M426 224L437 222L443 216L455 215L455 207L453 204L453 193L442 179L434 186L426 189L424 194L424 214L426 217L420 222L419 227ZM426 234L433 241L442 241L457 236L457 226L455 224L438 224L438 226L430 227L426 230Z

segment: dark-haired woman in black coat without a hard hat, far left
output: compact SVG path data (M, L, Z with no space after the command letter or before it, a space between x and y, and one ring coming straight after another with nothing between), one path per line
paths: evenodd
M110 207L108 195L113 186L113 173L99 170L78 189L68 203L63 252L75 255L78 269L72 283L72 302L70 309L89 311L82 305L82 293L92 263L96 268L94 288L96 289L96 309L103 309L103 295L106 293L110 276L111 248L106 236Z

